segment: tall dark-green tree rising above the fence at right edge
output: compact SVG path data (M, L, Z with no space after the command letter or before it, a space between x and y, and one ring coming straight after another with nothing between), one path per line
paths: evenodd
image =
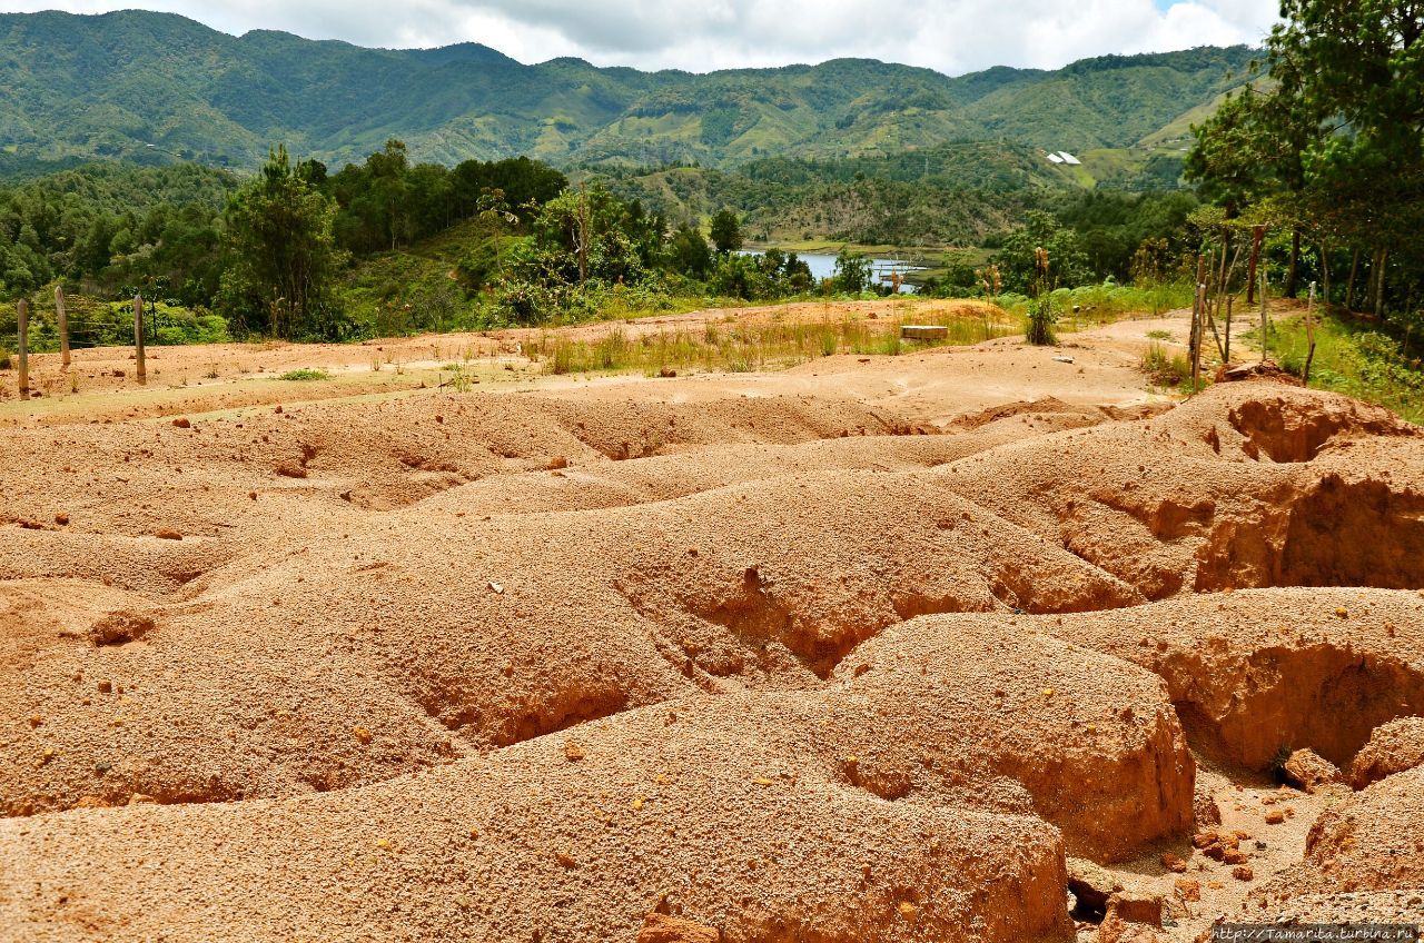
M1420 214L1410 207L1424 195L1424 4L1283 0L1282 19L1267 41L1269 83L1195 128L1188 177L1229 217L1250 205L1290 229L1287 293L1303 234L1321 245L1321 266L1339 242L1353 244L1356 258L1370 248L1371 276L1383 278L1391 252L1417 255ZM1321 225L1331 208L1344 212L1327 212ZM1378 308L1383 286L1371 286Z

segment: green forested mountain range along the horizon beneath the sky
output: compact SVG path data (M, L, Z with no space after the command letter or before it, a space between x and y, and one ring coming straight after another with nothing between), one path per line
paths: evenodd
M947 77L873 60L691 74L524 66L484 46L372 50L232 37L164 13L0 14L0 174L107 157L251 168L271 144L328 162L390 137L416 160L562 167L889 158L946 142L1165 144L1246 71L1245 47Z

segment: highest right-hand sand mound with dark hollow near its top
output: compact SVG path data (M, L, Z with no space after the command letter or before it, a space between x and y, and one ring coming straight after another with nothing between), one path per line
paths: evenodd
M1219 386L1156 419L1031 439L950 470L964 497L1149 598L1424 585L1424 436L1330 393Z

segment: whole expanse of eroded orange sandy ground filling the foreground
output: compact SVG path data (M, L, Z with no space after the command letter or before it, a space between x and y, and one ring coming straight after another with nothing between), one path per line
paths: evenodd
M1149 390L1148 332L1185 328L0 376L0 939L1424 922L1424 437L1274 382Z

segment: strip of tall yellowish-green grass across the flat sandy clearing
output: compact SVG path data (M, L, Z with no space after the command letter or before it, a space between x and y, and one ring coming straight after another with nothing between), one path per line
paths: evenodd
M906 323L940 325L938 340L901 340ZM615 326L597 340L572 340L554 332L525 343L530 359L548 373L642 372L651 376L699 368L745 373L779 369L837 353L889 355L930 346L970 345L1017 333L1021 321L991 306L953 311L903 309L893 319L846 316L839 321L792 321L773 315L765 322L708 321L632 336Z

